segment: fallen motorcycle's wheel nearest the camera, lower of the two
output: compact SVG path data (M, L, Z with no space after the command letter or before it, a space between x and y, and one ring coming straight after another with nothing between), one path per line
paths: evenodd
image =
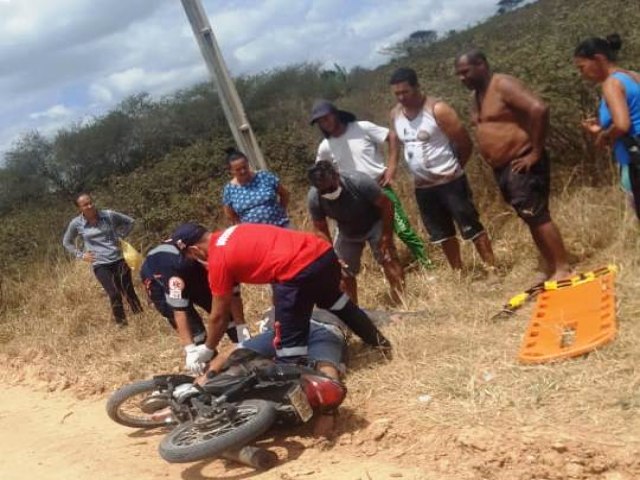
M160 456L170 463L217 457L239 448L266 432L276 419L276 409L266 400L245 400L235 411L213 419L198 418L178 425L160 443Z

